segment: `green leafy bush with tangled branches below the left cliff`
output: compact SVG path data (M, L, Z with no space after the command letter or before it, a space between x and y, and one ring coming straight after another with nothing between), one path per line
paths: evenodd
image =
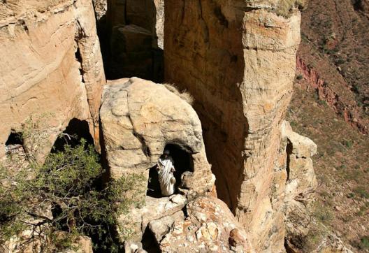
M50 247L44 238L55 242L57 231L65 231L68 236L52 247L66 247L85 235L99 242L96 247L116 251L117 213L141 204L134 196L145 178L126 175L103 185L102 174L99 156L85 140L76 147L66 145L64 152L49 154L43 165L29 164L15 175L2 167L0 245L27 229L31 235L22 240L38 240L42 247ZM128 191L133 197L122 197Z

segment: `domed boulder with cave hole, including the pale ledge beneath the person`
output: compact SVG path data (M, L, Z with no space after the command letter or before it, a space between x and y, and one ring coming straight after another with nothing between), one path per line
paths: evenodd
M201 122L189 103L164 85L139 78L108 82L103 92L100 118L104 152L112 178L143 173L148 180L149 169L157 164L167 145L175 145L188 154L190 166L182 171L180 163L176 167L177 173L187 171L182 177L184 180L179 182L184 196L140 196L146 199L146 205L133 210L131 215L137 218L133 220L142 221L137 224L141 233L150 219L177 212L188 199L212 189L215 178L206 158ZM144 183L143 188L146 187ZM140 231L137 232L139 237Z

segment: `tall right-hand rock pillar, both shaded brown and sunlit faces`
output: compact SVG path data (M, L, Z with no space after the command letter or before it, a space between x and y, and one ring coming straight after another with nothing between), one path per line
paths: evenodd
M277 1L166 1L165 79L196 99L217 193L259 250L283 248L280 125L291 98L300 14ZM280 164L280 165L279 165Z

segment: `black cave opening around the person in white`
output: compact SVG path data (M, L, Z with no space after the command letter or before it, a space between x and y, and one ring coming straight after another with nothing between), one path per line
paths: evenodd
M176 180L175 183L175 192L178 189L178 186L181 184L181 175L185 171L194 171L194 162L192 160L191 154L185 151L179 145L175 144L167 144L164 150L168 150L170 152L170 156L174 161L175 172L174 177ZM159 185L159 177L157 173L157 166L153 166L149 171L149 181L147 183L147 196L152 196L154 198L161 198L161 191Z

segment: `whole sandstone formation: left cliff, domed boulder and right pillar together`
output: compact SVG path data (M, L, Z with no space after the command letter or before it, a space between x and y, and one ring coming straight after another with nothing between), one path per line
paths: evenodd
M100 33L106 36L106 73L129 78L108 82L104 92L92 1L0 3L0 52L6 55L0 62L6 119L0 144L10 131L21 131L29 115L52 113L44 126L47 151L69 120L87 120L96 146L102 144L108 178L143 173L147 180L131 194L145 205L120 217L120 225L134 226L134 240L148 227L164 251L177 249L168 238L182 244L189 236L196 240L188 250L203 243L214 251L284 252L285 238L292 241L300 232L289 222L291 213L305 210L298 196L316 187L310 159L316 146L284 122L300 42L296 6L277 15L284 3L167 0L164 7L164 1L110 0ZM94 1L94 7L96 20L103 21L104 2ZM159 79L157 53L164 45L165 80L187 89L194 108L162 85L131 78ZM150 169L167 145L187 159L179 194L148 196ZM212 173L219 198L237 220L210 198ZM207 202L220 211L208 212ZM197 212L209 217L203 221ZM171 224L163 232L154 223L164 220ZM192 230L184 233L184 225Z

